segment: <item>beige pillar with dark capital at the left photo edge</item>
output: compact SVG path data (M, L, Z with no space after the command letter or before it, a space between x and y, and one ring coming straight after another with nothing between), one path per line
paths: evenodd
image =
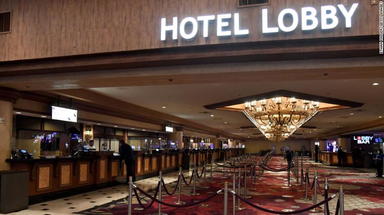
M11 88L0 87L0 170L9 170L9 163L5 159L11 156L13 104L21 94Z

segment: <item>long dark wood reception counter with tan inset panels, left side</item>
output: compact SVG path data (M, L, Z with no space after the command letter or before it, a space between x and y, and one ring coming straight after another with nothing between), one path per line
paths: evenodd
M193 163L209 163L244 154L244 149L161 150L148 154L134 151L136 180L188 169ZM61 198L125 182L123 158L113 152L90 152L82 157L7 159L12 170L29 171L29 204Z

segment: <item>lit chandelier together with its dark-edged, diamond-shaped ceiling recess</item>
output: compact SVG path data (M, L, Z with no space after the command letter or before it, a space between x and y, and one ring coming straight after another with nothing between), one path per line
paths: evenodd
M322 111L357 108L362 105L364 104L277 90L204 107L242 112L266 138L280 142Z

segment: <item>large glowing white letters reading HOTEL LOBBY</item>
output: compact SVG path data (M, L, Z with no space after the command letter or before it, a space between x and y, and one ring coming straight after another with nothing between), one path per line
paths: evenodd
M352 6L347 9L343 4L338 4L336 6L325 5L321 6L320 9L320 20L317 17L318 11L314 7L302 7L301 8L301 30L302 31L310 31L319 26L321 29L332 29L339 25L339 18L337 17L338 10L341 12L345 19L345 27L352 27L352 17L354 12L358 7L358 3L352 4ZM234 35L248 35L250 34L248 29L240 29L240 19L239 13L232 14L219 14L209 15L209 16L198 16L197 19L193 17L184 18L180 25L178 24L178 17L173 17L172 22L167 22L166 18L161 18L161 35L160 39L162 41L166 40L167 32L172 33L172 39L178 39L178 32L180 32L180 36L186 40L192 40L198 31L198 23L202 23L203 26L203 37L208 37L210 22L216 22L217 36L230 36ZM292 23L287 25L284 23L284 19L286 16L292 17ZM233 31L229 27L229 20L233 18ZM271 27L268 25L268 9L262 9L262 32L265 34L268 33L278 33L279 31L291 32L298 28L299 26L299 14L296 10L288 8L282 10L278 17L278 27ZM191 25L191 29L189 32L186 32L186 27Z

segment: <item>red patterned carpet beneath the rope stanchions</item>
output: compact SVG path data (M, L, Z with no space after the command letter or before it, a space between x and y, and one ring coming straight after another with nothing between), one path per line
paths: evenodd
M286 162L283 161L281 157L272 157L271 161L268 164L273 168L284 168L287 166ZM321 189L324 188L324 179L328 178L330 183L329 193L330 195L338 192L340 185L343 186L345 190L345 215L384 215L384 180L382 178L375 178L374 173L367 173L359 169L353 168L339 168L339 167L330 167L325 166L319 163L314 163L312 161L304 161L304 171L305 167L309 167L310 170L310 182L312 183L314 172L318 171L319 182ZM192 184L187 187L184 183L182 184L182 201L188 203L199 201L213 192L218 191L224 187L224 182L228 182L228 186L232 188L232 179L221 179L223 176L221 172L221 167L216 167L214 171L214 184L207 183L211 188L199 188L202 187L203 180L200 179L200 183L196 188L196 192L200 195L192 196ZM200 170L201 172L201 170ZM257 172L257 170L256 170ZM229 174L226 174L228 177L231 177ZM210 173L207 173L207 178L209 179ZM209 181L207 179L207 181ZM248 178L249 179L249 178ZM188 182L189 180L187 180ZM248 187L250 185L250 179L248 180ZM293 176L291 178L292 185L296 184ZM248 191L248 195L251 195L252 198L249 199L254 204L261 206L263 208L274 210L276 213L279 212L288 212L294 210L300 210L307 208L312 205L312 201L301 200L300 197L303 197L304 192L297 192L300 189L300 186L291 186L287 187L287 172L265 172L265 176L261 177L260 180L256 177L256 184L253 185L253 188L256 190ZM173 190L176 186L176 183L166 185L168 190ZM154 190L149 190L149 193L154 195ZM243 194L243 191L242 193ZM223 214L223 198L224 195L218 195L213 199L196 205L189 208L170 208L162 206L162 212L168 215L220 215ZM309 196L313 196L313 190L309 190ZM140 194L140 197L143 199L142 202L149 202L149 198L144 197ZM320 202L324 199L318 193L317 201ZM165 192L162 194L162 200L167 203L173 203L177 201L177 192L173 196L166 195ZM329 202L330 213L335 213L337 198ZM245 203L241 204L242 207L245 207L245 210L237 211L236 214L239 215L266 215L265 213L259 210L252 208ZM133 198L133 208L140 208L137 203L136 198ZM158 204L154 203L151 208L144 211L133 211L133 215L148 215L158 212ZM100 205L85 211L78 212L77 214L81 215L127 215L127 201L125 199L120 199L117 201L112 201L110 203ZM228 214L232 214L232 195L228 195ZM314 213L306 212L302 214L310 215L322 215L324 212ZM270 214L269 214L270 215Z

